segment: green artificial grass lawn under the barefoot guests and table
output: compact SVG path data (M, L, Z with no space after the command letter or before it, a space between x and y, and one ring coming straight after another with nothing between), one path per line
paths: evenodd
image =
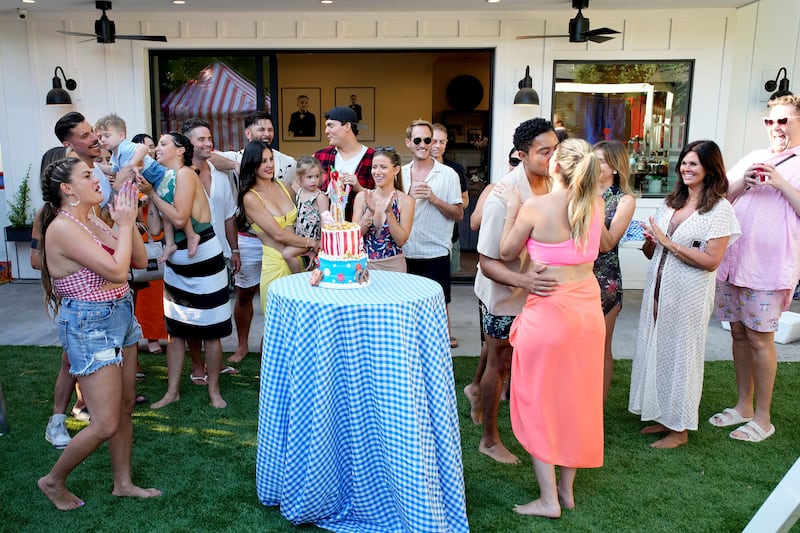
M227 356L228 354L226 354ZM57 511L36 487L59 452L44 440L60 349L0 346L0 383L10 435L0 437L0 530L2 531L321 531L293 527L276 507L255 494L258 357L250 354L239 375L222 376L223 411L208 406L206 388L181 382L181 400L159 411L134 412L134 481L158 487L161 498L111 495L107 447L90 456L69 478L86 501L82 509ZM147 379L138 391L156 400L166 390L163 355L140 354ZM501 405L500 433L523 459L520 466L493 462L478 453L480 426L472 424L461 392L477 358L453 359L456 378L467 514L474 532L528 531L741 531L798 455L800 364L781 363L773 402L777 432L760 444L733 441L731 429L705 420L733 405L731 362L706 364L699 431L675 450L653 450L658 436L640 435L642 423L626 410L630 361L617 361L606 407L605 465L581 470L577 508L560 520L512 511L538 495L530 457L513 438L508 403ZM187 369L183 372L188 376ZM369 398L365 398L369 401ZM576 421L579 423L580 421ZM72 433L83 423L68 418Z

